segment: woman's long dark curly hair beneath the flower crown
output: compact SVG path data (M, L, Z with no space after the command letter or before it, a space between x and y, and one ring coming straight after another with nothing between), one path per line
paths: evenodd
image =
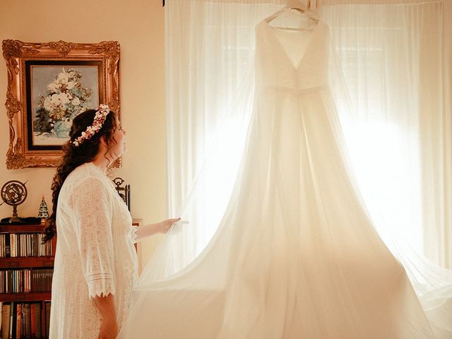
M69 137L71 140L81 136L83 131L86 131L88 126L91 126L96 114L95 109L88 109L81 114L78 114L72 121L71 131ZM77 147L73 143L66 143L64 145L64 155L57 167L57 173L54 175L52 181L52 214L46 220L46 226L44 228L44 242L48 242L55 235L57 235L57 206L58 196L63 186L64 180L68 175L76 169L76 167L83 165L85 162L93 161L97 153L99 153L100 138L105 136L105 142L107 143L107 153L117 143L114 140L113 134L117 129L117 115L113 111L109 111L102 127L97 133L90 139L84 140L83 143ZM104 155L107 158L107 153ZM108 159L108 158L107 158Z

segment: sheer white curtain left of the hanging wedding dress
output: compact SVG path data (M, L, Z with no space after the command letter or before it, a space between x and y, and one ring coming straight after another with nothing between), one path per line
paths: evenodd
M285 4L265 2L165 4L168 211L190 221L151 260L165 275L202 251L225 212L251 113L241 95L253 92L254 26Z

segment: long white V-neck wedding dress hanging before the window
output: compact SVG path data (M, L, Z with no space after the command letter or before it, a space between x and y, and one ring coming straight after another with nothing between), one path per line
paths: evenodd
M329 50L321 22L256 26L254 109L229 206L194 262L141 280L120 338L437 338L350 179Z

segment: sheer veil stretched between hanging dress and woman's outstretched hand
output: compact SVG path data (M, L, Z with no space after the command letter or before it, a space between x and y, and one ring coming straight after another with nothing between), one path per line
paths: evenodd
M182 204L182 210L174 213L174 215L180 215L183 222L188 223L176 224L169 230L162 244L150 258L150 262L143 269L138 288L183 271L183 268L201 254L208 242L213 242L210 239L215 237L214 232L220 225L220 218L227 208L227 203L234 197L232 189L245 147L253 93L254 66L250 56L249 67L244 73L237 95L220 119L217 132L214 133L215 137L194 179L192 189ZM218 183L223 187L222 194L216 194L215 186ZM199 213L199 210L206 210L206 213ZM202 230L213 231L203 234ZM194 234L202 234L203 241L191 242Z

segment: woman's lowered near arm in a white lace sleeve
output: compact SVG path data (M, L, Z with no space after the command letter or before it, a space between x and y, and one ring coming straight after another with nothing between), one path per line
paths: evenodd
M116 338L114 306L114 244L112 234L112 193L96 177L85 177L73 187L73 218L81 268L88 295L102 316L99 338ZM120 291L122 292L122 291Z

